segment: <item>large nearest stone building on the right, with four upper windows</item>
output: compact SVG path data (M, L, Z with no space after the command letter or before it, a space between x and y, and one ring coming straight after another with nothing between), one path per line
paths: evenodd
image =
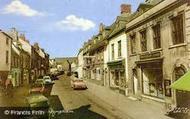
M136 13L126 25L129 92L143 100L184 105L170 84L190 68L190 3L163 0Z

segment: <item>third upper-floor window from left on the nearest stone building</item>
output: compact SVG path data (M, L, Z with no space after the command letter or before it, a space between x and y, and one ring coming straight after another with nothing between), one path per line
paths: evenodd
M153 29L153 47L154 49L161 48L160 42L160 24L152 27Z

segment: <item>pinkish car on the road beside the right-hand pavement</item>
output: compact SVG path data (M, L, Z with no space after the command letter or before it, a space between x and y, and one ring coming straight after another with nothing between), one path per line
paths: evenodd
M73 89L87 89L85 82L80 79L71 80L71 87Z

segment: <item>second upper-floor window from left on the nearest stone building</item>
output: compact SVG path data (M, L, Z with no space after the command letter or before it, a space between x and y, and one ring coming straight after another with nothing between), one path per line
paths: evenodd
M141 34L141 51L147 51L147 39L146 39L146 30L140 32Z

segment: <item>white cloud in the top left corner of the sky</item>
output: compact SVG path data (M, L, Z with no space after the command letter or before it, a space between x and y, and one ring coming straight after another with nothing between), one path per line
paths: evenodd
M27 4L22 3L20 0L13 0L10 4L3 8L4 14L16 14L27 17L43 16L44 13L32 9Z

